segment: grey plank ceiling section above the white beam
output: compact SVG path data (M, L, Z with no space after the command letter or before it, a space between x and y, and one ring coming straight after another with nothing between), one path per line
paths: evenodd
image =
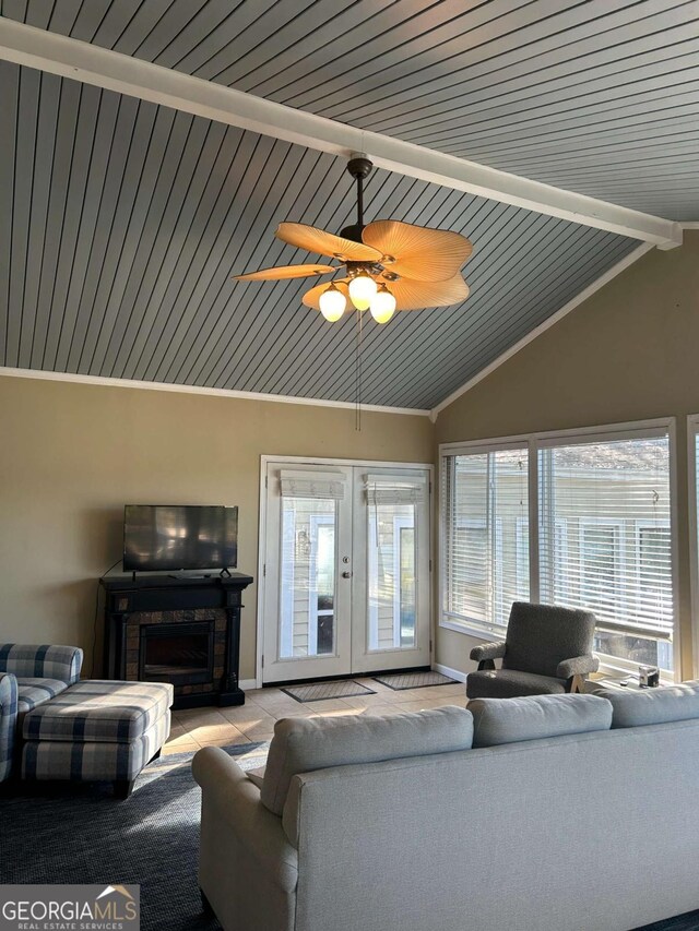
M5 16L699 219L697 0L3 0Z

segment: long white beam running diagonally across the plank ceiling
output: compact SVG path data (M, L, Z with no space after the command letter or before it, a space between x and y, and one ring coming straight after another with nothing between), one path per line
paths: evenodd
M673 220L488 168L415 143L365 132L3 16L0 16L0 58L343 158L356 152L367 153L375 165L389 171L628 236L660 249L682 244L680 225Z

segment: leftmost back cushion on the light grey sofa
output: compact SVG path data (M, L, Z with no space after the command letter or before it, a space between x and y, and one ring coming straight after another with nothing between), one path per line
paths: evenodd
M455 706L384 717L282 718L274 726L260 798L281 815L297 773L470 750L472 739L473 718Z

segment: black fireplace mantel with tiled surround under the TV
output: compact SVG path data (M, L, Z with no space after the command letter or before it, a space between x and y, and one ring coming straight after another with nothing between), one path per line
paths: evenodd
M175 707L241 705L240 609L252 576L111 575L105 592L104 669L109 679L169 681ZM193 668L167 660L167 641L182 633ZM155 659L145 652L156 644ZM206 652L206 655L200 653ZM181 661L181 660L180 660Z

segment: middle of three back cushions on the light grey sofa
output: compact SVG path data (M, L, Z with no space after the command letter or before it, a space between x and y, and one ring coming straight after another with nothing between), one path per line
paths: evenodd
M608 730L612 726L612 705L595 695L474 699L469 711L473 715L474 747Z

